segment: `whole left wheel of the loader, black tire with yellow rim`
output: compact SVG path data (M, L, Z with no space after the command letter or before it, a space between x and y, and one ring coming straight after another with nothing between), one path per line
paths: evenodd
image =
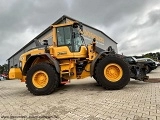
M58 78L58 73L54 66L40 63L27 72L26 86L34 95L48 95L58 87Z

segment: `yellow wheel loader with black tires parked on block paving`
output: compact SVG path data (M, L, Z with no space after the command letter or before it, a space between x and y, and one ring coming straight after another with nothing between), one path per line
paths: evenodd
M48 95L72 79L93 77L108 90L118 90L130 81L128 63L111 47L97 51L96 39L85 44L83 25L78 22L52 25L53 45L35 40L36 47L19 58L9 71L34 95Z

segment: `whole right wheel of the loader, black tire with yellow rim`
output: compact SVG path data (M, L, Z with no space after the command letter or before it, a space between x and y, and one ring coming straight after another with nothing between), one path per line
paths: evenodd
M118 90L130 81L128 65L117 56L105 56L96 65L97 82L105 89Z

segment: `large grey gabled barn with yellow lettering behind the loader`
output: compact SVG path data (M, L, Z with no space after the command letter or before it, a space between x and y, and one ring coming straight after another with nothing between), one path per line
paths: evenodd
M79 20L75 20L69 16L63 15L62 17L60 17L57 21L55 21L52 25L56 25L56 24L60 24L60 23L67 23L67 22L73 22L73 21L77 21L80 22ZM97 40L97 45L99 48L102 49L107 49L108 46L112 46L113 49L118 52L117 50L117 43L111 39L109 36L107 36L104 32L91 27L83 22L81 22L83 24L83 37L85 40L85 43L91 43L91 40L93 38L96 38ZM46 28L44 31L42 31L39 35L37 35L34 39L32 39L28 44L26 44L24 47L22 47L20 50L18 50L15 54L13 54L11 57L9 57L7 59L8 61L8 68L10 69L11 67L15 67L15 66L19 66L19 57L21 54L25 53L26 51L28 51L31 48L36 47L35 44L35 40L48 40L49 45L53 44L53 36L52 36L52 27L51 25Z

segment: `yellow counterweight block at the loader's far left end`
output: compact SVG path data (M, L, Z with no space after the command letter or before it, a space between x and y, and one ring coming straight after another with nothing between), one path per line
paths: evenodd
M11 68L9 71L9 79L22 79L22 71L20 68Z

